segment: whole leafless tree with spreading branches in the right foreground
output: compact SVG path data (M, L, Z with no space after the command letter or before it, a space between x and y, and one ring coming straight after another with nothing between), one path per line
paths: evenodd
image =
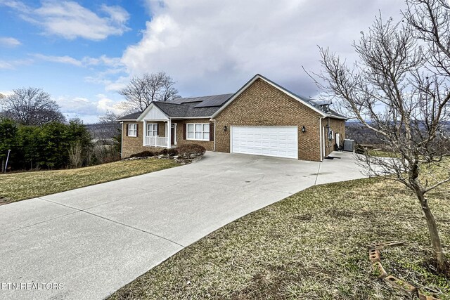
M398 157L360 156L368 174L390 175L418 198L439 270L444 254L426 195L450 181L450 31L445 0L406 0L404 20L375 19L354 43L359 60L349 66L320 48L319 83L349 117L373 131ZM439 170L439 171L437 171ZM393 175L393 176L392 176Z

